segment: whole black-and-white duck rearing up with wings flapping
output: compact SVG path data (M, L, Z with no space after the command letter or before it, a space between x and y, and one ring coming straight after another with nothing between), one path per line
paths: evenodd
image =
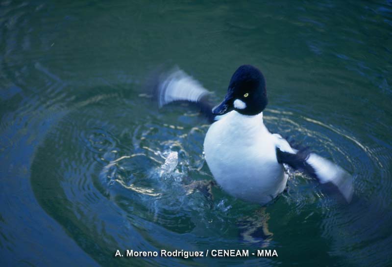
M154 96L159 107L188 102L211 123L204 138L204 158L216 183L228 194L267 205L281 194L288 169L303 172L350 203L352 176L307 149L292 147L264 124L268 105L266 80L255 66L242 65L232 75L223 101L210 104L211 92L178 67L161 74Z

